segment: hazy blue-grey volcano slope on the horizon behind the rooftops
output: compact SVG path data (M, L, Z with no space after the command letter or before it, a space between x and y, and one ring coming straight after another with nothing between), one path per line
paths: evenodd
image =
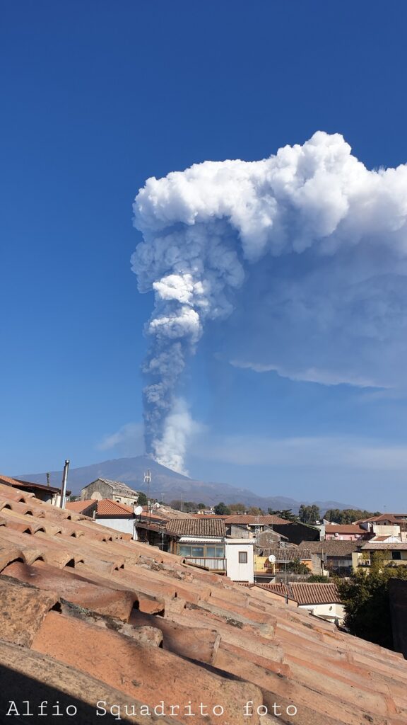
M112 481L123 481L137 491L146 491L144 473L151 471L152 481L150 485L151 496L164 499L166 502L175 499L184 501L196 501L208 505L217 504L223 501L226 504L242 502L248 506L258 506L264 510L292 509L298 513L301 503L309 505L316 504L323 513L329 508L355 508L351 504L338 501L307 501L301 502L285 496L259 496L249 489L220 484L214 482L195 481L182 476L181 473L172 471L148 456L135 456L132 458L116 458L105 460L101 463L85 465L81 468L70 468L68 475L68 489L72 494L79 495L80 489L95 479L111 479ZM62 481L62 471L51 471L51 486L59 486ZM33 481L37 484L46 484L46 473L19 473L16 478Z

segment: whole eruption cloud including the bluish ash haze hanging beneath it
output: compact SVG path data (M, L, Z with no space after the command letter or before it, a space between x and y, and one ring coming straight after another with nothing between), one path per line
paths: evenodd
M193 423L180 411L180 377L206 320L235 309L235 365L389 384L384 371L406 353L407 165L368 170L340 134L319 131L261 161L150 178L134 212L143 241L133 270L155 297L146 446L161 463L183 468Z

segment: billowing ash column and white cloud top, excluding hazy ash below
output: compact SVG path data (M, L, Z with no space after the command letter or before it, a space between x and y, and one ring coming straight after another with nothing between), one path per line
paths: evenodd
M319 131L261 161L204 162L150 178L134 212L143 241L133 270L140 292L155 298L143 368L146 450L177 471L193 428L180 377L206 320L232 312L249 267L304 255L319 270L321 260L355 254L346 272L355 283L376 273L374 264L406 272L407 167L367 170L339 134Z

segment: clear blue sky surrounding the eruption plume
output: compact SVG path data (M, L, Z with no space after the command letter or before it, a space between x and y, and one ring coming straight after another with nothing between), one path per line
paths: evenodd
M1 14L0 468L138 454L153 308L130 270L138 189L316 130L369 169L405 163L407 7L44 0ZM293 380L231 364L238 319L211 323L188 363L190 475L406 510L397 350L383 362L395 389Z

